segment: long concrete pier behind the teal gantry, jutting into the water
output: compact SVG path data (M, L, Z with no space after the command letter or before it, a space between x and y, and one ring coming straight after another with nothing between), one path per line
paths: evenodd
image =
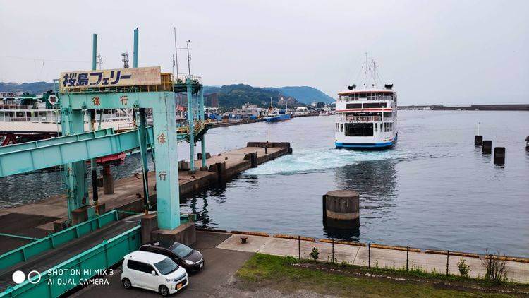
M267 153L265 154L265 147ZM244 157L248 153L257 153L257 164L260 165L269 160L274 160L288 153L291 153L290 143L286 142L249 142L244 148L230 150L225 153L212 155L208 158L207 167L211 167L216 163L226 163L226 171L224 179L230 179L234 175L250 169L250 160L245 160ZM195 168L200 169L201 161L195 160ZM147 174L149 179L149 198L150 202L156 201L156 190L154 189L156 183L154 169L150 169ZM180 196L186 196L196 191L206 189L208 186L219 181L219 174L217 172L199 171L195 174L189 174L188 171L178 171L178 182L180 184ZM114 184L113 194L104 194L102 189L99 191L99 203L104 203L106 211L110 210L124 210L133 212L143 211L143 186L142 174L135 174L131 177L118 179ZM90 202L92 203L92 193L89 192ZM9 213L18 213L25 215L40 215L46 217L59 217L59 221L66 220L66 195L51 196L36 203L20 205L13 208L0 209L0 217ZM40 225L39 229L54 230L53 222L48 222Z

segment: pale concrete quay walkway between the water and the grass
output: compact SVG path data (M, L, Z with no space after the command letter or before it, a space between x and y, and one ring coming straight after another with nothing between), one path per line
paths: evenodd
M207 231L207 230L202 230ZM213 232L213 231L212 231ZM275 234L270 236L264 232L232 231L221 232L229 234L230 237L219 244L219 249L230 249L235 251L247 251L275 256L293 256L298 258L298 249L301 257L308 259L312 247L317 247L320 252L320 261L331 261L332 251L336 263L346 262L350 265L365 266L368 264L368 247L361 242L340 242L332 239L315 239L310 237ZM246 237L246 243L241 243L241 236ZM299 247L298 247L299 245ZM334 249L333 249L334 246ZM382 244L371 244L371 266L378 268L406 268L406 247L387 246ZM444 254L441 254L444 252ZM427 272L443 274L446 270L447 251L422 251L410 248L408 251L409 268L420 268ZM470 266L470 277L482 278L485 275L485 268L482 266L482 258L478 254L467 254L456 251L449 251L449 272L458 274L457 263L463 258ZM501 260L506 261L509 281L529 284L529 258L518 258L501 256Z

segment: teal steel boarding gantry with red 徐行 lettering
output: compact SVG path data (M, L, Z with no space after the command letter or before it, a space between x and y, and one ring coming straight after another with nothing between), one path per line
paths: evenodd
M93 45L92 54L97 49L97 35L94 35ZM95 59L95 56L92 58ZM133 68L137 67L138 29L134 30L133 59ZM0 177L63 165L68 217L71 218L73 210L90 205L86 161L91 161L93 175L95 158L139 149L144 177L144 203L148 208L147 154L150 150L156 157L158 227L175 229L180 225L177 142L185 140L190 144L190 167L195 170L194 147L195 142L200 140L204 168L205 131L211 125L204 119L204 95L200 82L187 76L184 84L180 80L171 81L169 73L161 75L162 85L61 90L62 137L0 148ZM169 84L166 83L168 81ZM188 95L188 121L187 127L177 128L175 92L184 86ZM193 94L198 98L193 100ZM196 117L193 113L195 104ZM96 130L92 115L97 109L133 109L135 129L123 133L114 133L111 129ZM153 126L147 126L146 109L152 109ZM89 112L92 118L90 132L84 131L85 112ZM97 204L97 189L94 189L94 193L93 201Z

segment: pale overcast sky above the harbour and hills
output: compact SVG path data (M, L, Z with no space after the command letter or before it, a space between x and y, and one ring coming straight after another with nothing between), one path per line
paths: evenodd
M90 69L92 33L103 68L120 68L136 27L139 66L171 72L176 26L206 85L310 85L334 97L360 83L369 52L401 105L529 103L528 16L526 0L0 0L0 81Z

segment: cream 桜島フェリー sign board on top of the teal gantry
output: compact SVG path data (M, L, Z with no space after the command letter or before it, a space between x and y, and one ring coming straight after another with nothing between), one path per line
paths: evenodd
M59 79L61 90L160 84L162 84L162 76L159 66L67 71L61 73Z

